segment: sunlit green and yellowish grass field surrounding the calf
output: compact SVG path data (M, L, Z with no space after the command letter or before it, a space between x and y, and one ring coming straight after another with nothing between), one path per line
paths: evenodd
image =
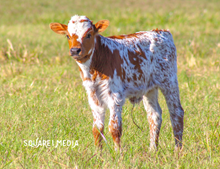
M219 168L220 1L0 0L1 168ZM105 36L169 29L177 47L178 79L185 110L183 150L174 138L164 97L159 149L149 151L143 104L123 108L122 155L113 151L106 114L102 153L93 143L92 113L78 67L64 36L49 23L72 15L108 19ZM31 147L36 140L78 145ZM26 144L28 143L28 144Z

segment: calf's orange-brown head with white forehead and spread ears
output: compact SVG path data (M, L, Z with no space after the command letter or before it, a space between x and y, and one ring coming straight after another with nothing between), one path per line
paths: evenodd
M95 47L95 36L109 25L108 20L100 20L95 25L85 16L73 16L68 25L51 23L50 28L66 35L69 42L69 54L77 61L87 60Z

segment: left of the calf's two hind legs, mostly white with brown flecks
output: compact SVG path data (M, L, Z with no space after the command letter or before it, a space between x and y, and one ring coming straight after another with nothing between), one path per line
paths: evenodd
M150 149L157 149L162 123L162 110L158 103L158 89L152 89L143 96L143 103L150 125Z

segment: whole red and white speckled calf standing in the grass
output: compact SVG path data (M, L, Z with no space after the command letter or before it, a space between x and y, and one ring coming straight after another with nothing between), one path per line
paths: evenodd
M108 20L93 24L75 15L68 25L51 23L50 28L67 36L69 54L76 60L92 109L95 144L101 147L106 108L110 109L109 132L116 149L122 135L122 106L143 99L150 124L150 148L157 148L162 110L158 89L166 98L176 147L182 146L184 111L177 81L177 56L172 35L166 30L103 37Z

